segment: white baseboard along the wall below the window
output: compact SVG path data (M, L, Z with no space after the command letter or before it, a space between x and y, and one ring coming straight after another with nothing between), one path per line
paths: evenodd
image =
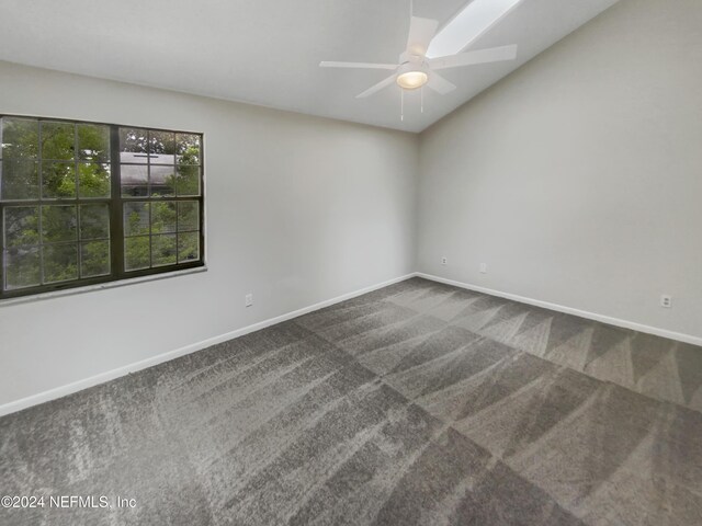
M203 348L207 348L212 345L216 345L217 343L223 343L228 340L233 340L235 338L242 336L250 332L260 331L261 329L265 329L267 327L274 325L276 323L281 323L283 321L291 320L293 318L297 318L298 316L306 315L308 312L313 312L315 310L324 309L325 307L332 306L335 304L339 304L341 301L346 301L347 299L355 298L356 296L362 296L367 293L372 293L373 290L377 290L378 288L387 287L388 285L393 285L395 283L404 282L405 279L409 279L414 277L415 274L408 274L406 276L396 277L395 279L389 279L384 283L378 283L377 285L372 285L370 287L362 288L360 290L354 290L353 293L348 293L341 296L338 296L332 299L328 299L326 301L320 301L315 305L310 305L309 307L304 307L298 310L294 310L292 312L287 312L285 315L278 316L275 318L270 318L264 321L260 321L258 323L253 323L252 325L244 327L241 329L237 329L235 331L227 332L225 334L219 334L217 336L210 338L207 340L203 340L201 342L196 342L190 345L186 345L181 348L177 348L174 351L169 351L168 353L159 354L158 356L152 356L147 359L143 359L140 362L136 362L134 364L126 365L124 367L118 367L116 369L109 370L106 373L101 373L95 376L91 376L90 378L86 378L83 380L78 380L72 384L68 384L66 386L57 387L54 389L49 389L47 391L39 392L37 395L32 395L26 398L22 398L20 400L15 400L5 404L0 405L0 416L4 416L7 414L15 413L18 411L22 411L23 409L31 408L33 405L38 405L39 403L49 402L52 400L56 400L58 398L66 397L68 395L72 395L78 391L82 391L83 389L88 389L89 387L98 386L100 384L104 384L110 380L114 380L122 376L126 376L131 373L136 373L141 369L146 369L148 367L152 367L155 365L162 364L163 362L169 362L171 359L179 358L181 356L185 356L186 354L194 353L196 351L202 351Z

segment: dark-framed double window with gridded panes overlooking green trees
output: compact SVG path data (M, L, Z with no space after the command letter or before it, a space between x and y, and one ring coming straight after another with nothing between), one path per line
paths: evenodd
M0 117L0 298L203 266L202 135Z

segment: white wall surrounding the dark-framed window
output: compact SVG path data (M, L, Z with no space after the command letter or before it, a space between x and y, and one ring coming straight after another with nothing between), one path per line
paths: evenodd
M208 265L0 307L0 405L415 270L417 136L7 62L0 113L203 132Z

